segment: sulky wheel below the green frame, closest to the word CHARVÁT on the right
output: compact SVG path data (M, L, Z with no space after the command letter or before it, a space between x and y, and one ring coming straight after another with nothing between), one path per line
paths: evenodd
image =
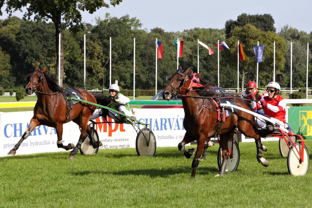
M135 140L135 148L139 156L153 156L156 152L155 136L149 128L142 128Z

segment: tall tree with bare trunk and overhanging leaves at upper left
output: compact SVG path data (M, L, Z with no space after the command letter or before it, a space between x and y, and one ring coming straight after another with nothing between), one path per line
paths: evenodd
M110 0L110 4L115 7L115 5L122 2L122 0ZM78 28L84 28L81 23L81 13L80 11L88 11L89 13L95 12L100 7L109 7L109 4L105 3L103 0L0 0L0 8L4 4L7 4L5 11L12 15L12 12L20 10L26 7L27 12L24 14L24 18L31 19L34 16L35 21L51 21L55 26L55 48L56 57L59 56L59 45L60 45L60 56L61 64L59 66L56 62L56 69L60 68L61 71L61 85L63 83L63 73L64 73L64 48L62 43L62 32L63 29L70 27L72 31L76 31ZM2 11L0 10L0 15ZM62 21L63 20L63 21ZM61 41L59 44L59 35L61 35Z

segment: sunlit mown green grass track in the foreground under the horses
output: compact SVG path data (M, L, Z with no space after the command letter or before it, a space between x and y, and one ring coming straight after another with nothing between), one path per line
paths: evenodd
M278 142L263 143L269 167L256 161L255 143L240 143L238 169L214 177L216 144L195 179L190 179L193 157L186 159L177 147L157 148L150 157L137 156L135 148L78 153L74 160L67 159L69 152L2 157L0 207L310 206L312 172L289 175ZM305 143L311 150L312 140Z

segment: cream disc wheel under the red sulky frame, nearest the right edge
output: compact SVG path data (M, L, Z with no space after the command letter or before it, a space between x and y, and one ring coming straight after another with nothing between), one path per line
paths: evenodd
M295 147L301 153L301 142L295 142L295 146L292 145L289 149L287 158L288 172L294 176L304 176L309 169L309 152L305 146L303 151L303 162L300 162L300 157Z

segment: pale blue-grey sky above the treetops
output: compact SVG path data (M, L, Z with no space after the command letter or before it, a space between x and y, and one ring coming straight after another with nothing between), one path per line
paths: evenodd
M105 0L109 2L109 0ZM106 12L112 17L126 14L136 17L148 31L158 27L166 32L184 29L225 27L227 20L236 20L242 13L271 14L276 31L288 24L289 27L310 33L312 31L312 1L306 0L123 0L116 7L100 8L93 14L82 12L82 21L95 25L95 17L105 18ZM4 8L0 19L7 18ZM22 13L14 13L22 17Z

